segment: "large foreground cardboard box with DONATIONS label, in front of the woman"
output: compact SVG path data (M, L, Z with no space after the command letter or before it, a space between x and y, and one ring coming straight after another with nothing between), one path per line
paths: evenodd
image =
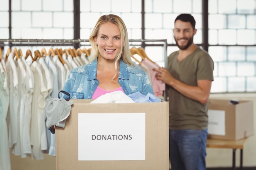
M74 100L56 127L56 170L169 170L168 102L91 101Z

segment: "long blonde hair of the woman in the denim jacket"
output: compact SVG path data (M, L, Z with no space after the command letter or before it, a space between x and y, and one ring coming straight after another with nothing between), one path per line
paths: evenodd
M120 60L123 60L126 64L132 65L131 60L131 54L130 54L130 46L129 46L129 39L128 39L128 33L126 29L126 25L124 24L124 21L117 15L114 14L108 14L108 15L102 15L99 20L97 21L96 25L94 26L94 29L92 30L92 33L89 37L90 44L92 46L92 51L90 54L90 61L92 62L99 56L99 49L94 41L94 38L97 37L99 28L102 24L110 22L112 24L115 24L118 26L120 33L121 33L121 51L117 55L115 59L115 70L116 74L113 77L113 79L118 75L118 68L117 64Z

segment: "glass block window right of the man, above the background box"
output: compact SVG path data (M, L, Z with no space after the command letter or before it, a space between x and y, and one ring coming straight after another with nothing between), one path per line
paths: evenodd
M208 2L209 54L217 66L211 92L255 92L256 1Z

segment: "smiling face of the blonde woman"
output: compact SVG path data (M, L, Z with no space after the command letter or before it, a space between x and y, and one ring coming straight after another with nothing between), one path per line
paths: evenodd
M98 44L99 57L106 60L115 60L121 51L121 33L117 25L110 22L102 24L97 37L94 38Z

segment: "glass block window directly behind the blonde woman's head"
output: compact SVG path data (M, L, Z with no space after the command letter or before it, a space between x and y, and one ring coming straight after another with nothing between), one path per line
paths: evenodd
M104 14L120 16L129 39L141 39L141 0L80 0L80 37L89 39L97 20Z

